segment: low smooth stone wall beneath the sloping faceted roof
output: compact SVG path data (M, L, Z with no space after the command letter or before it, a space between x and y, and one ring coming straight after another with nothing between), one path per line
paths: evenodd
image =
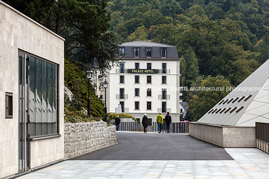
M189 135L221 147L255 147L255 127L189 122Z

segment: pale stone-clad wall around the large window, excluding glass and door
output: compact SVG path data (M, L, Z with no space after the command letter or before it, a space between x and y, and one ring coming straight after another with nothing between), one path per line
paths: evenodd
M31 141L30 167L64 158L64 39L0 1L0 178L18 173L19 50L59 64L62 137ZM12 119L5 117L5 92L13 93Z

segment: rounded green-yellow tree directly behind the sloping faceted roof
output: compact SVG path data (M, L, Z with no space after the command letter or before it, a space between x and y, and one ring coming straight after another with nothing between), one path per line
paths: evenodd
M232 85L223 76L211 77L208 76L204 80L197 78L197 81L192 84L192 87L211 88L212 90L195 90L194 95L189 101L190 111L188 119L192 121L199 120L209 109L216 105L229 92ZM192 88L191 88L192 89Z

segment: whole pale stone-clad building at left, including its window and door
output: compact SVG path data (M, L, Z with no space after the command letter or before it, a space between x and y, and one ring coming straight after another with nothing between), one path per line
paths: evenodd
M64 39L0 1L0 178L64 158Z

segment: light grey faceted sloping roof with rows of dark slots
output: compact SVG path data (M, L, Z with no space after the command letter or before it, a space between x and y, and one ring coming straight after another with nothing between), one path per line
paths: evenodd
M228 126L255 126L255 122L269 122L269 60L197 122Z

